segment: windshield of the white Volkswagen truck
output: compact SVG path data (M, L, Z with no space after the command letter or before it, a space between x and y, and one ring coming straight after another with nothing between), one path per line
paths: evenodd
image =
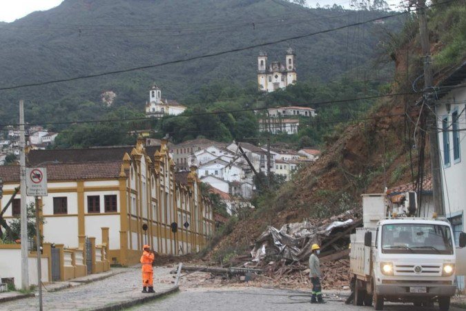
M383 225L382 253L453 254L452 234L445 225Z

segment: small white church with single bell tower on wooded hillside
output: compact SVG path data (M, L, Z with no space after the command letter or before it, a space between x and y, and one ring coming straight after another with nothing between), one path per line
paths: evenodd
M156 85L149 91L149 102L146 102L146 117L163 117L164 115L179 115L186 110L186 106L175 100L162 98L162 91Z

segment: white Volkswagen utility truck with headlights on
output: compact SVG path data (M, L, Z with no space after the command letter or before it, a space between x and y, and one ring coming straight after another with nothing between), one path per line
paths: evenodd
M356 305L385 301L448 310L456 292L456 249L446 219L415 218L416 193L362 195L364 227L351 234L350 273ZM459 246L466 245L460 232Z

